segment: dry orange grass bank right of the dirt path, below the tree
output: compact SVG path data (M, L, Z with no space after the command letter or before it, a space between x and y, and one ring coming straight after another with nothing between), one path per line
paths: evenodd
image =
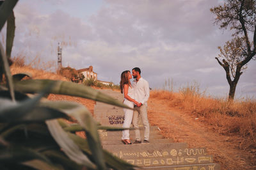
M244 138L241 149L256 148L256 102L252 100L228 102L196 94L193 91L152 91L151 98L168 101L168 105L189 112L211 126L219 134Z

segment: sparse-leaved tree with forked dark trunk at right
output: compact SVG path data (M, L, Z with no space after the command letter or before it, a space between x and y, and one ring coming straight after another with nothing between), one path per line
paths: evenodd
M234 38L226 42L223 48L218 47L220 54L216 58L226 72L230 86L228 98L233 100L242 71L251 59L255 60L256 1L225 0L223 5L211 8L211 12L216 15L214 24L220 25L221 29L234 31ZM250 42L252 37L253 41Z

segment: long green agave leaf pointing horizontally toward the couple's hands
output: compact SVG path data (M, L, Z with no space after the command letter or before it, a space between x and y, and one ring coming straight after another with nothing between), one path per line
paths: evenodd
M56 85L51 89L50 93L89 98L106 104L132 109L115 98L109 97L100 91L74 82L29 79L15 82L15 89L17 91L22 91L23 93L39 93L51 82L55 82Z

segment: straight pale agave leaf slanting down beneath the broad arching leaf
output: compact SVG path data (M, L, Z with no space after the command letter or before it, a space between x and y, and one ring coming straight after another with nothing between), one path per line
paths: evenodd
M55 141L60 145L66 155L76 162L84 166L95 169L96 166L83 154L78 146L70 139L67 133L61 128L57 120L47 120L46 124Z

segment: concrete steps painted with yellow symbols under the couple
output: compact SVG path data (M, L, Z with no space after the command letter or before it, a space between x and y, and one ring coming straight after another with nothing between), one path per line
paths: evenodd
M112 90L101 90L103 93L122 101L123 95ZM94 108L95 120L104 126L122 127L124 111L120 107L97 102ZM143 125L140 121L141 135ZM138 166L138 169L176 169L176 170L214 170L220 169L212 155L207 155L206 148L188 148L186 143L173 143L173 139L164 139L158 127L150 127L149 143L125 145L121 142L122 132L99 130L102 147L127 162ZM135 138L134 130L130 139ZM137 169L137 168L136 168Z

